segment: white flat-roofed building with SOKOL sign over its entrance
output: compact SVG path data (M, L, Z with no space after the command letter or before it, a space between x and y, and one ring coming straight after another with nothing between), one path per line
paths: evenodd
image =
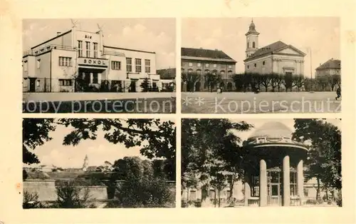
M162 88L155 52L105 46L101 30L73 26L25 51L22 66L23 91L86 91L105 84L112 91L136 92L147 79Z

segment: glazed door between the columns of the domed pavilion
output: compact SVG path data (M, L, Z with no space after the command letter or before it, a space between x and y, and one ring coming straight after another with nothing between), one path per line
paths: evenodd
M268 196L267 203L271 206L281 206L281 171L280 170L268 170Z

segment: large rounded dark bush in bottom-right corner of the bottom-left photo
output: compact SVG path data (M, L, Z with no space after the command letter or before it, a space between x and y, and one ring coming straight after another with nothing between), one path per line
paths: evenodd
M128 178L117 186L116 198L123 208L162 208L175 197L169 183L150 174Z

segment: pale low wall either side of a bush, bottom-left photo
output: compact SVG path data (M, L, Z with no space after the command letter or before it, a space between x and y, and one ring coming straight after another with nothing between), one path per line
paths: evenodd
M106 186L85 186L80 188L80 195L83 196L85 188L89 190L89 200L108 200ZM23 192L37 193L39 201L57 200L55 180L25 180L23 181Z

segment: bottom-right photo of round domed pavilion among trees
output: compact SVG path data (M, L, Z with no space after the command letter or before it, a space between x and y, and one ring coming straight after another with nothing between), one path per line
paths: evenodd
M342 206L341 119L182 119L182 207Z

